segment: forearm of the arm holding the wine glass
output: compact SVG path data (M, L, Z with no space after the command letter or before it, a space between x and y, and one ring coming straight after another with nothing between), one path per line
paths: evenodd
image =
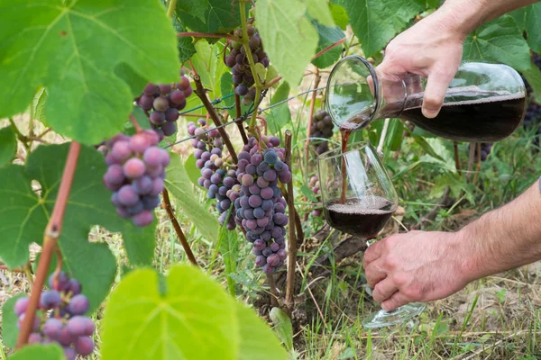
M533 184L512 202L457 232L468 281L541 260L541 193Z

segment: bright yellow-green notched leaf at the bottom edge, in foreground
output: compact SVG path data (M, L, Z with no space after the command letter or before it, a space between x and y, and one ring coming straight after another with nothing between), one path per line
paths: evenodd
M237 359L239 324L221 286L188 265L174 266L165 284L162 294L150 269L124 277L105 307L103 360Z

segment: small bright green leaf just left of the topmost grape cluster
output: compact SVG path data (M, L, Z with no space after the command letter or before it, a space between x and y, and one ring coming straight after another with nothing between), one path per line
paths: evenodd
M209 44L206 40L199 40L196 49L196 55L191 58L192 64L197 75L201 77L203 86L213 90L208 94L216 99L220 97L220 81L227 69L221 54L223 46L220 43ZM194 96L197 97L196 94Z

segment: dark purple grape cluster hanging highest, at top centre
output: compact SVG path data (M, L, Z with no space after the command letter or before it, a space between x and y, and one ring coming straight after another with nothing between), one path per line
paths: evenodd
M234 31L234 35L243 40L242 29ZM252 53L253 63L260 63L263 67L269 67L269 58L263 50L261 37L257 30L252 26L248 26L248 45ZM250 62L246 55L246 49L241 41L230 42L229 55L225 57L225 65L231 67L233 72L233 83L237 85L234 92L243 97L243 105L249 105L255 99L255 88L250 88L255 80L252 76Z

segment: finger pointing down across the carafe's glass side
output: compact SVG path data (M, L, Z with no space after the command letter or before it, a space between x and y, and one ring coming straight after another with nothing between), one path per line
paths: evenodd
M453 78L454 74L446 69L438 70L428 75L422 108L423 115L426 118L435 118L440 112L444 103L445 93Z

